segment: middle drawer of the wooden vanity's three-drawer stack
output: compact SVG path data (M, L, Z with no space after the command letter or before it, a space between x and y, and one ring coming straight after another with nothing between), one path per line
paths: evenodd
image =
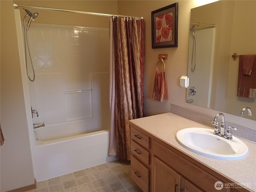
M132 155L141 160L142 163L149 164L149 152L134 142L134 140L131 140L131 152Z

